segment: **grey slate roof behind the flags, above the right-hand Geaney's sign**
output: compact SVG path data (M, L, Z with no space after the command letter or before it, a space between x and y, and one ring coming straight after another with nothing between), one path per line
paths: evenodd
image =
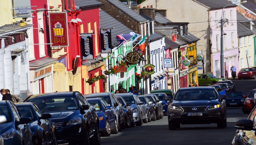
M100 26L101 28L113 28L111 29L111 41L112 45L119 44L119 41L116 39L116 35L119 34L129 34L133 32L131 29L123 25L121 22L110 16L105 11L101 10L100 15Z

